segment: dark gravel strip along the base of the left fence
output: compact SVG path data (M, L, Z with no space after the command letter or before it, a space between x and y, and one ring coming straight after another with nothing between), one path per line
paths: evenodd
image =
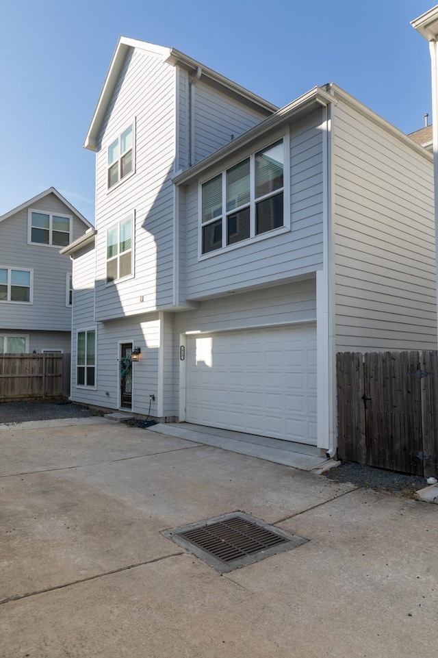
M100 415L100 414L99 414ZM96 412L84 405L56 402L2 402L0 424L28 420L57 420L58 418L90 418Z

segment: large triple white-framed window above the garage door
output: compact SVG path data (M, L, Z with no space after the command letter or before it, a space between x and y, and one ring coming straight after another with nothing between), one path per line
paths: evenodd
M201 254L284 225L283 139L202 186Z

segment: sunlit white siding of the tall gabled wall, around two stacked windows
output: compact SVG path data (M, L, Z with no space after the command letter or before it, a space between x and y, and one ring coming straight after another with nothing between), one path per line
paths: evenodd
M107 147L136 117L136 170L107 190ZM175 157L175 70L130 51L99 139L96 164L96 319L140 314L172 303L170 181ZM135 278L105 286L106 229L136 214ZM144 301L140 303L140 296Z

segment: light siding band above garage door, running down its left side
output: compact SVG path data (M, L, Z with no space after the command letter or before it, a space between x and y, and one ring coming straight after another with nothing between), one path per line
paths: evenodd
M316 319L315 279L283 286L218 297L200 303L197 309L175 314L174 377L175 405L169 416L178 416L179 334L186 331L245 329Z

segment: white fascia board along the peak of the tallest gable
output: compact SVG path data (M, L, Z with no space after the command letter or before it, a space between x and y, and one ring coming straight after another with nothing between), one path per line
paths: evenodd
M110 104L114 88L116 87L118 81L118 76L120 75L120 71L122 70L123 63L125 62L127 52L130 48L138 48L142 51L153 53L153 55L158 55L163 59L168 57L168 54L170 53L170 49L163 46L157 46L146 41L130 39L126 36L120 37L116 46L116 50L114 51L114 55L112 56L110 68L108 69L107 75L105 77L105 81L99 95L99 100L97 101L96 109L94 110L90 127L88 128L85 142L83 142L84 149L89 149L90 151L96 151L97 149L97 138L99 136L99 130L101 129L107 107Z

